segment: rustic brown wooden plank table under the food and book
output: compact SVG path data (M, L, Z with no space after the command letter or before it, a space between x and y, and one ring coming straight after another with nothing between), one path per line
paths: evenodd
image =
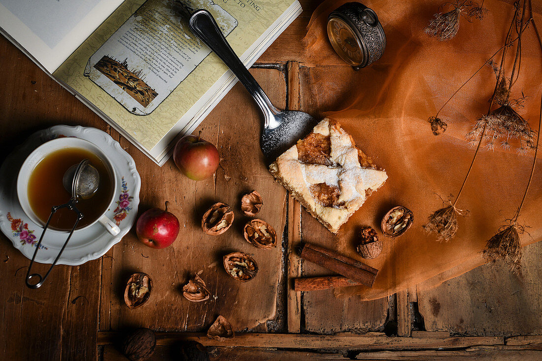
M277 106L301 108L315 115L336 100L332 95L317 98L311 93L312 75L346 67L339 60L322 67L300 58L300 40L317 4L302 1L305 11L251 69ZM0 69L2 160L31 132L42 128L56 124L99 128L118 140L134 158L142 179L140 209L175 199L173 210L189 229L195 229L194 214L217 195L236 199L243 191L274 184L257 163L257 144L251 144L259 132L257 109L240 85L198 128L218 146L223 160L215 178L196 183L183 178L171 161L161 168L152 163L3 37ZM243 127L236 107L248 109L245 116L255 122L251 127ZM525 249L522 280L506 269L483 266L437 288L427 289L422 283L374 301L335 299L331 290L301 294L294 292L287 281L301 274L301 261L293 251L302 234L314 229L320 232L321 227L280 186L273 190L273 196L266 195L272 198L274 208L267 216L278 222L278 233L286 218L287 225L282 248L278 247L271 257L275 270L269 272L276 271L269 278L274 280L272 289L261 291L263 296L256 297L255 303L251 303L250 294L233 295L236 301L241 300L241 304L233 306L237 311L231 311L228 299L219 298L209 308L189 304L182 298L178 287L188 274L199 269L186 269L182 260L176 259L176 255L186 253L182 241L163 253L153 252L138 243L131 231L100 259L81 266L59 266L46 285L30 290L23 281L28 260L2 235L0 324L4 327L0 331L0 358L120 360L124 358L114 342L124 328L131 326L158 331L153 358L157 360L171 357L183 339L196 339L210 346L214 359L542 357L542 273L538 266L542 243ZM199 237L190 232L182 235ZM321 231L318 235L332 244L329 234ZM205 250L192 252L202 260L209 256ZM212 268L209 263L212 265L207 262L202 267ZM170 286L155 291L153 307L131 312L120 297L122 282L135 270L149 269L160 282L170 282ZM319 272L321 269L303 265L304 275ZM216 294L228 295L231 291L227 285L218 289L221 282L213 284ZM217 313L224 312L236 315L231 321L243 332L222 343L204 337L201 332Z

